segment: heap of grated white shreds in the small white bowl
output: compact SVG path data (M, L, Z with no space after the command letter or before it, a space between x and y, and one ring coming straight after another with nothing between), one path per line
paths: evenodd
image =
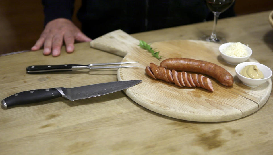
M245 44L242 44L241 42L235 42L227 46L223 53L228 56L234 56L234 57L243 57L247 56L247 50ZM247 45L248 46L248 45Z

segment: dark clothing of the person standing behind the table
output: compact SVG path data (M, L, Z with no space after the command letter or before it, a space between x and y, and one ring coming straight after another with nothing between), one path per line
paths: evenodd
M71 19L74 0L42 0L45 24ZM233 6L222 17L234 16ZM97 38L113 30L128 34L212 20L204 0L82 0L77 13L82 32Z

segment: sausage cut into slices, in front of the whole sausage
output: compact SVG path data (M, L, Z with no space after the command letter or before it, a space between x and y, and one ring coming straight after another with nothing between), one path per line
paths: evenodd
M154 63L150 63L147 66L145 72L148 76L154 79L164 80L169 83L175 83L179 87L201 87L208 91L213 91L213 87L209 78L198 75L189 74L187 72L177 72L175 70L168 70L164 67L157 66ZM202 82L202 83L200 83Z

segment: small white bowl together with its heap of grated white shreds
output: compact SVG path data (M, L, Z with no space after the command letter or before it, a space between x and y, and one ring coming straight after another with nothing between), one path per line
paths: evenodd
M245 62L252 54L251 48L241 42L228 42L220 45L220 55L231 65L237 65Z

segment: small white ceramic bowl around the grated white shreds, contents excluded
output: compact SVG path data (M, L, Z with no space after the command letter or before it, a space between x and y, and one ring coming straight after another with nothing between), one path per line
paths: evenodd
M225 44L222 44L220 45L219 47L219 51L220 51L220 55L222 56L222 58L229 64L232 64L232 65L237 65L241 62L245 62L247 59L249 59L249 57L251 56L252 54L252 50L251 48L249 48L248 46L244 45L246 47L246 50L247 50L247 53L248 55L247 56L244 56L244 57L234 57L234 56L228 56L226 54L223 53L223 50L229 46L230 44L232 44L234 42L228 42L228 43L225 43Z

